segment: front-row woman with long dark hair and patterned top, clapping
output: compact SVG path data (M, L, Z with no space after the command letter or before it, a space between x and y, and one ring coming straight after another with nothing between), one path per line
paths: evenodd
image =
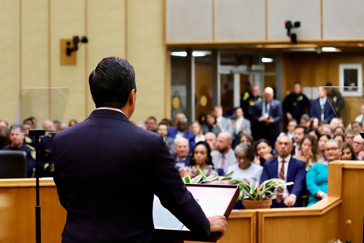
M179 173L185 177L189 175L191 178L199 175L198 168L201 168L206 176L217 175L214 166L211 162L210 146L205 141L199 141L193 149L193 157L191 165L186 168L179 168Z

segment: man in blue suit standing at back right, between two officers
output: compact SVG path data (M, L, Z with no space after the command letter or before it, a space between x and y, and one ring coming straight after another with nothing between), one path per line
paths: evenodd
M330 123L331 119L336 117L335 103L333 109L326 97L324 87L322 85L317 87L318 98L314 99L311 103L309 115L310 117L316 117L319 121L327 121Z

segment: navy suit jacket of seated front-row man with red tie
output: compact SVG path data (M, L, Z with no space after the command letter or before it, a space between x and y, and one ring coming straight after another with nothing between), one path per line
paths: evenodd
M272 158L265 161L260 183L265 180L278 178L278 158ZM306 180L306 164L301 160L291 157L288 163L287 181L293 181L293 185L287 186L289 194L297 196L297 201L301 197L302 191L305 189Z

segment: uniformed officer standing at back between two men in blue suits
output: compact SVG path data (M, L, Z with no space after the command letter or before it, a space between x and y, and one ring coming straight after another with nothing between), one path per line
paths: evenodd
M308 113L310 110L310 101L306 95L302 94L300 83L294 83L293 93L286 96L282 108L287 122L292 118L300 121L301 116Z

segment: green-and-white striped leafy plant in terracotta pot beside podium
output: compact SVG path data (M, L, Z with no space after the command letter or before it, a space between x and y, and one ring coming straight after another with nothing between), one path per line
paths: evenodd
M242 199L242 204L245 209L252 208L270 208L272 205L273 195L278 195L282 193L274 193L273 189L276 187L281 187L286 189L288 185L293 185L293 182L285 182L282 179L274 178L263 181L259 184L257 181L248 181L246 179L240 180L234 178L230 180L231 184L238 184L240 188L240 196L238 199Z

